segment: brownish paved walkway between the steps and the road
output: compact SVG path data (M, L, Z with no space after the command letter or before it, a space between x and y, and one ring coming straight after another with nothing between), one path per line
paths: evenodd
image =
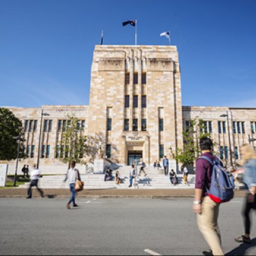
M33 197L40 197L39 192L33 188ZM44 189L45 198L68 198L69 189ZM84 189L77 193L77 198L90 197L193 197L195 189ZM243 196L244 190L236 190L235 196ZM27 189L20 188L1 188L0 198L26 198Z

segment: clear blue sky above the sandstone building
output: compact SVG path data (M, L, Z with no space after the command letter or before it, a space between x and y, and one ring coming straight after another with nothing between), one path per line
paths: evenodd
M93 49L164 45L171 31L183 106L256 108L255 0L0 0L0 106L88 104Z

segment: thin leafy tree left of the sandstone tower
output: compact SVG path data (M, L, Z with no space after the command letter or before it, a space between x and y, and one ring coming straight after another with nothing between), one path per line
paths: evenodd
M81 124L79 124L77 117L74 115L67 115L67 127L62 134L60 154L60 161L63 163L76 163L86 164L86 156L88 154L87 136L82 134Z

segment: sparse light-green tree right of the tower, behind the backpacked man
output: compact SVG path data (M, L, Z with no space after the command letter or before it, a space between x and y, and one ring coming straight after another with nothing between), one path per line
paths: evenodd
M205 124L203 120L191 120L189 127L182 132L183 148L177 148L174 156L176 161L186 164L193 164L193 162L200 156L201 150L199 141L204 137L211 137L211 134L205 131Z

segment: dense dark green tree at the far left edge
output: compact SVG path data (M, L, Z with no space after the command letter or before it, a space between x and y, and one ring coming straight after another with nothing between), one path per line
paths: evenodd
M15 139L20 138L20 141ZM17 148L19 147L19 157L24 157L24 131L22 122L13 115L12 111L6 108L0 108L0 159L10 161L17 157Z

